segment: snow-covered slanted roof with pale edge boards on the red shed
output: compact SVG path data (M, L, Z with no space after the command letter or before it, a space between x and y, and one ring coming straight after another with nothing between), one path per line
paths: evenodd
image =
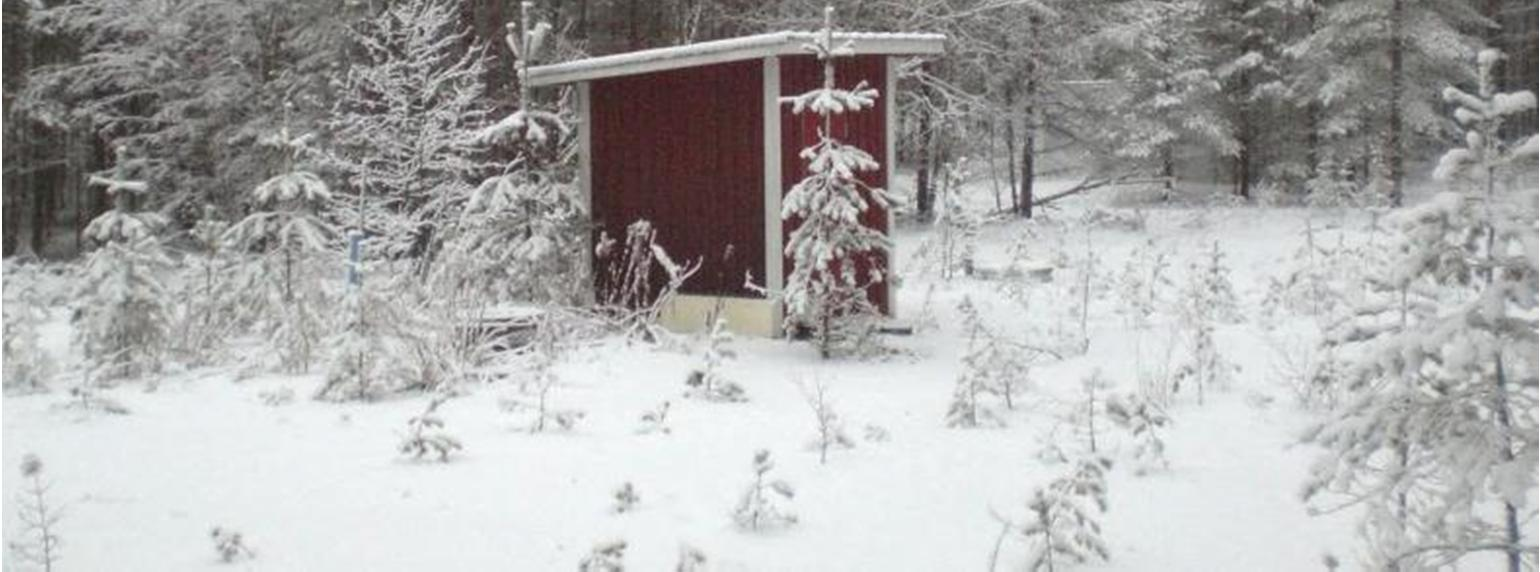
M819 32L784 31L684 46L644 49L625 54L530 68L530 86L584 82L602 77L634 76L651 71L738 62L755 57L805 54L802 45ZM835 43L850 42L856 54L918 56L939 54L942 34L835 32Z

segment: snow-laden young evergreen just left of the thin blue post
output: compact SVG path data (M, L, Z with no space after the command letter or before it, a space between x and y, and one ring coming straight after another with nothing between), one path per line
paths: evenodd
M225 241L246 253L242 281L257 327L290 372L308 372L320 359L328 330L330 296L325 276L340 281L340 267L326 273L326 253L336 251L337 231L323 217L333 194L316 174L297 168L310 154L308 134L288 126L265 142L283 156L283 171L251 191L251 214L225 231Z

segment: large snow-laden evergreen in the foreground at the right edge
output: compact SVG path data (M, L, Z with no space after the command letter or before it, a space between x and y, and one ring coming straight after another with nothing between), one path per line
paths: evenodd
M1458 566L1477 552L1534 566L1537 453L1535 139L1505 142L1503 120L1534 94L1498 94L1494 51L1478 91L1446 91L1466 145L1437 174L1449 191L1398 211L1401 244L1378 276L1400 293L1392 319L1334 339L1352 350L1346 405L1306 433L1324 447L1306 498L1363 509L1368 558L1383 567ZM1420 304L1412 293L1437 296Z

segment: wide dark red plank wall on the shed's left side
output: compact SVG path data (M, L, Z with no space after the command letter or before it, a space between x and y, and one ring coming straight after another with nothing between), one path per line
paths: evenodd
M702 261L682 291L756 296L744 274L765 276L761 66L748 60L590 85L594 241L601 231L624 239L627 225L651 220L676 262ZM594 276L594 287L602 291L605 276Z

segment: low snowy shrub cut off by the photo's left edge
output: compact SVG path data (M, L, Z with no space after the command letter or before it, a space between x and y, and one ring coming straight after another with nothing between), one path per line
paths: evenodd
M42 392L54 362L38 344L37 328L48 318L38 291L40 271L34 265L5 261L5 350L0 375L5 392Z

